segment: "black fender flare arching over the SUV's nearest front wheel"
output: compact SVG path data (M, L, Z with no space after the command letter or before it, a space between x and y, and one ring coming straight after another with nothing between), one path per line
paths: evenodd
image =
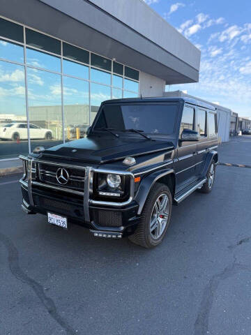
M174 174L175 176L175 172L173 169L165 169L155 171L142 179L142 182L140 183L139 189L135 196L135 201L139 204L139 209L137 211L138 215L142 213L146 198L148 197L152 186L155 184L156 181L158 181L158 179L167 176L167 174Z

